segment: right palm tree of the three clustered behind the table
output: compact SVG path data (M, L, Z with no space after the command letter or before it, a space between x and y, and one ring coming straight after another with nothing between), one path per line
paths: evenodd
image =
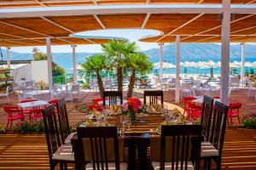
M131 98L134 84L135 84L135 74L139 72L140 74L145 74L152 68L152 63L148 56L143 53L131 54L125 59L126 68L131 71L127 98Z

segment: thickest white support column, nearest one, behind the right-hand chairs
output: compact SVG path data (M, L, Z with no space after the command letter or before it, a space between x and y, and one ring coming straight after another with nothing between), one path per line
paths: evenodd
M230 0L223 0L221 28L221 102L228 105L230 86Z

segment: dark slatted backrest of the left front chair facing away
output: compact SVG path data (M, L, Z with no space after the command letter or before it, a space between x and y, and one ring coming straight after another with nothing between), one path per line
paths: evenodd
M90 139L90 157L93 169L108 169L108 150L107 139L113 139L115 169L119 170L119 139L117 127L78 127L79 138L79 157L85 162L84 139ZM107 147L108 145L108 147ZM76 155L76 153L75 153ZM77 160L76 160L77 163ZM84 166L84 163L83 165ZM79 169L84 169L80 167Z

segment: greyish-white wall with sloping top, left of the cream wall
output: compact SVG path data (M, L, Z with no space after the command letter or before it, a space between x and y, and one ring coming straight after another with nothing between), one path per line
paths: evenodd
M30 64L22 65L14 70L11 70L10 76L14 77L14 82L20 82L21 79L26 79L27 81L32 80L32 66Z

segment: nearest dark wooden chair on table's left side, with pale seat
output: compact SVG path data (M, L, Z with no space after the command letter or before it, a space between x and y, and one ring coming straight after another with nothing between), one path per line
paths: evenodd
M60 163L67 169L67 163L74 163L73 148L71 144L60 144L58 127L55 119L55 106L50 105L43 110L44 128L49 153L50 169L54 170L55 166Z

